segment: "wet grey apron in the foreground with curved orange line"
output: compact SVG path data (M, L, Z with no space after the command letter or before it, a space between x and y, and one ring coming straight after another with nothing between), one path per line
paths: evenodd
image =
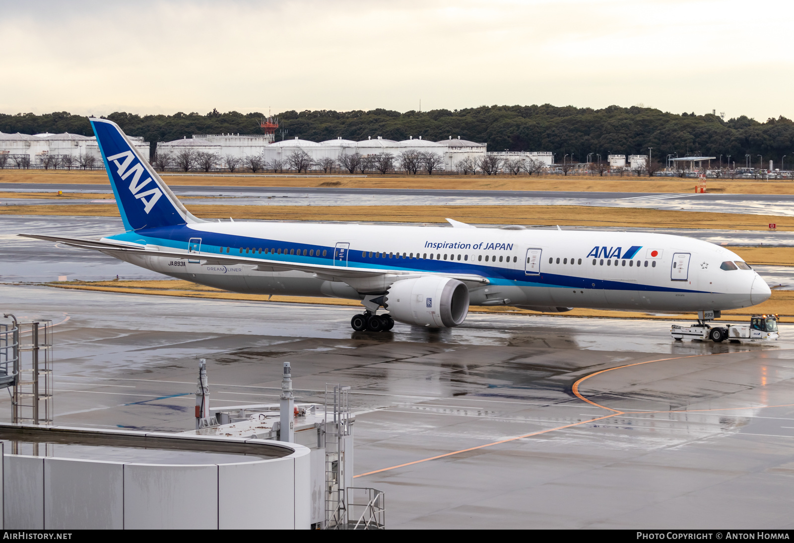
M356 484L386 491L391 529L794 524L794 325L766 345L542 315L369 334L343 307L30 285L0 299L56 322L63 426L191 428L198 357L214 405L275 401L284 360L300 401L350 385Z

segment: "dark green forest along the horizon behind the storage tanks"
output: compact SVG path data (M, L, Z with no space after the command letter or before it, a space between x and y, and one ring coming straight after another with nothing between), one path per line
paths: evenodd
M147 141L172 141L193 134L262 133L261 113L237 111L208 114L175 113L138 115L117 112L107 115L130 136ZM723 120L718 115L672 114L640 106L608 106L601 110L542 106L480 106L463 110L407 111L284 111L276 139L299 137L324 141L342 137L360 141L367 137L405 140L422 137L438 141L449 137L485 142L488 151L547 151L557 162L584 162L607 154L651 154L664 161L673 156L717 156L736 166L746 155L778 163L783 156L794 160L794 122L785 117L755 121L744 115ZM87 117L67 112L51 114L0 114L2 133L77 133L91 136ZM153 150L153 149L152 149ZM758 155L761 155L759 157ZM572 156L572 158L570 158Z

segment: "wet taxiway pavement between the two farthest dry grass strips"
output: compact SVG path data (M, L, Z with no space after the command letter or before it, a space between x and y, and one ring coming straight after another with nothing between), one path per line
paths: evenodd
M682 183L682 186L692 182ZM206 187L175 185L178 196L193 204L269 206L607 206L657 210L711 211L794 216L794 194L696 194L577 191L468 191L441 189L372 189L357 187ZM110 185L0 183L0 191L91 192L111 194ZM0 205L74 205L108 203L92 198L53 202L44 198L3 198Z

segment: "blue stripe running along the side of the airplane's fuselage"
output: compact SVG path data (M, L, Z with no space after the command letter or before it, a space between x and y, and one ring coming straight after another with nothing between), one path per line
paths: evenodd
M110 236L108 239L132 241L134 243L160 245L162 247L185 250L191 237L202 238L202 258L207 258L213 253L222 256L235 256L242 254L246 258L294 262L295 264L333 265L334 248L330 246L267 240L261 237L237 236L235 234L197 231L184 225L162 226L158 228L138 230L137 232L128 232L118 234L116 236ZM327 254L326 256L303 256L289 255L286 254L286 252L280 255L269 252L256 252L260 248L265 251L266 245L268 249L286 248L287 250L295 250L296 252L314 249L315 251L325 250ZM225 252L225 248L227 247L233 252ZM240 248L243 248L245 251L246 247L253 248L254 252L239 252ZM629 251L634 250L634 253L636 253L639 249L640 247L631 247L629 248ZM367 254L369 253L367 252ZM628 252L624 254L625 258L629 258L627 254ZM189 258L189 256L185 255L185 258ZM371 269L383 269L384 271L398 269L404 270L406 272L468 273L482 275L488 278L491 281L491 284L494 285L517 285L521 287L588 288L615 291L703 292L681 288L657 287L654 285L623 283L622 281L592 279L587 277L577 277L576 275L561 275L545 272L541 272L540 275L526 275L522 269L499 268L496 266L472 264L470 262L457 260L430 260L413 258L409 259L410 265L404 265L402 262L400 262L400 260L404 260L403 257L400 256L399 258L388 259L387 264L380 264L380 262L383 261L383 258L388 257L362 257L360 249L349 250L348 268L366 267Z

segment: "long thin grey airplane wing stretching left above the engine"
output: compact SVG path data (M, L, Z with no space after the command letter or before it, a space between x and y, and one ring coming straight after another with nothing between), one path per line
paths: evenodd
M199 260L201 264L248 264L256 266L260 272L287 272L295 270L297 272L314 273L323 277L333 277L339 279L355 279L364 277L376 277L378 275L439 275L451 277L463 281L464 283L475 283L487 285L490 283L482 275L468 273L439 273L439 272L407 272L405 270L384 270L380 268L347 268L345 266L328 266L325 264L299 264L293 262L283 262L281 260L268 260L264 258L252 258L250 256L233 256L221 254L207 254L206 252L187 252L187 251L163 251L160 249L144 248L138 244L126 244L114 241L84 240L77 237L59 236L40 236L38 234L20 233L17 236L31 237L43 241L55 241L64 243L76 248L94 249L95 251L107 253L127 253L147 256L168 256L170 258L189 258ZM407 279L407 278L405 278Z

